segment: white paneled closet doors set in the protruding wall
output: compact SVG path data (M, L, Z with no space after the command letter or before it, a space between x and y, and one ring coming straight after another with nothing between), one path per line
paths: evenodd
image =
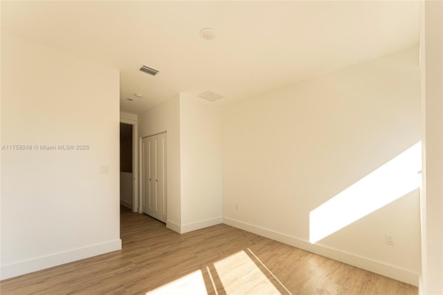
M142 210L166 222L166 133L142 139L143 202Z

